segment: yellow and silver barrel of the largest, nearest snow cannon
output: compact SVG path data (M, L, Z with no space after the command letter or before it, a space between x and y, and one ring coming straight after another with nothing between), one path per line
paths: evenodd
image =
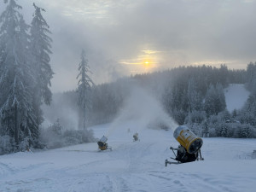
M185 125L178 126L173 132L173 137L180 143L183 148L186 148L189 154L195 154L200 150L203 141L197 137L194 132L190 131Z

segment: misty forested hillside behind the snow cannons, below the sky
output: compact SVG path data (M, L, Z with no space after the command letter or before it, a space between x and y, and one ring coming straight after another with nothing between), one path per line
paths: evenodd
M138 86L154 96L178 125L188 125L201 137L256 137L255 83L256 63L253 62L247 65L247 70L203 65L137 74L92 87L85 112L86 126L112 122L122 110L132 88ZM250 92L244 107L231 113L226 109L224 97L224 88L228 84L245 84ZM51 108L54 113L63 103L67 108L79 111L74 104L77 103L76 90L59 93L56 98ZM54 113L50 115L53 121L59 118ZM82 116L79 113L80 119ZM65 119L61 120L63 125L67 125Z

